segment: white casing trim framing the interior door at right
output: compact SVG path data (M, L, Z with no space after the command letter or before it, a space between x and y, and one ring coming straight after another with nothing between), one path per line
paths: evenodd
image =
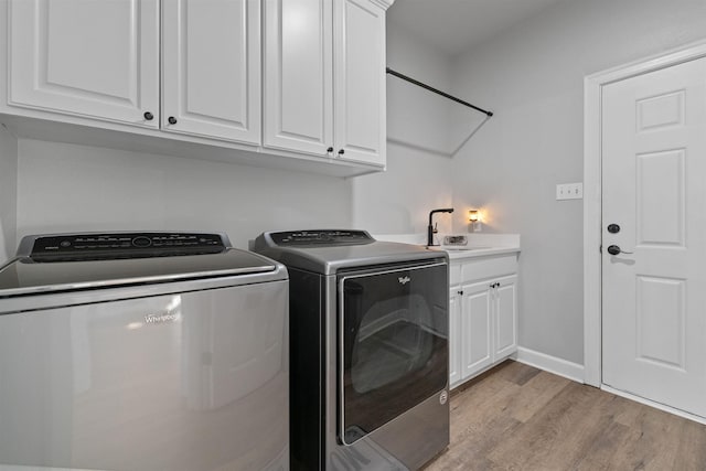
M631 62L584 79L584 382L601 386L601 100L614 82L706 57L706 41ZM677 90L675 90L677 92ZM645 104L649 106L649 104ZM649 110L645 110L649 113ZM678 116L678 110L675 111ZM659 124L666 126L666 124ZM608 222L607 222L608 223Z

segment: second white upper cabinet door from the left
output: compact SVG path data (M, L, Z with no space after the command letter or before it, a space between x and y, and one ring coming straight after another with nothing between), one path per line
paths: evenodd
M169 0L162 14L162 129L259 143L259 1Z

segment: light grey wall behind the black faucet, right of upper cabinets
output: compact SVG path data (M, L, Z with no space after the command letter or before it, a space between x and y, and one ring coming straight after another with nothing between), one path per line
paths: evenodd
M437 88L450 86L448 58L391 21L387 65ZM353 180L355 227L373 234L425 233L429 211L451 205L449 103L387 76L387 171ZM440 231L451 229L451 216L436 218Z

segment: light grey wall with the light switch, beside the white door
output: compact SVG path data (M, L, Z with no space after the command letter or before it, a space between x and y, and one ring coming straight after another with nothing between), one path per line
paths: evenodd
M521 345L584 360L582 207L555 201L582 180L584 76L702 38L704 0L568 0L454 62L454 93L495 116L453 159L453 204L522 234Z

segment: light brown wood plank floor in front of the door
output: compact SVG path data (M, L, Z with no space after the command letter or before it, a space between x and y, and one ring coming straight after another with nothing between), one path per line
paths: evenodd
M441 470L706 470L706 426L509 361L452 394Z

